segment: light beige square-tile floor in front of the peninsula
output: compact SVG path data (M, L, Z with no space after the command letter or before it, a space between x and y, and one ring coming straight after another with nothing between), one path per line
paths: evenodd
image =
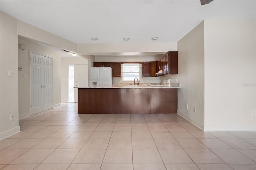
M203 132L177 114L77 114L20 120L0 141L2 170L256 170L256 132Z

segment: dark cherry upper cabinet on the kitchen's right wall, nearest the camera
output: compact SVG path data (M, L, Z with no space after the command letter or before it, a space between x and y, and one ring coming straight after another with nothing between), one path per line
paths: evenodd
M178 74L178 51L167 52L163 59L165 59L165 75Z

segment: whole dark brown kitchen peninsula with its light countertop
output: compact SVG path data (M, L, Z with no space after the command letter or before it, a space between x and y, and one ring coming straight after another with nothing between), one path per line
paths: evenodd
M79 114L177 113L177 86L77 88Z

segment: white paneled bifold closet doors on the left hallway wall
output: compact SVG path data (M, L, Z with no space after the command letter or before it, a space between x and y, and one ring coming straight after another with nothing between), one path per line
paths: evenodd
M52 109L52 59L30 53L31 115Z

